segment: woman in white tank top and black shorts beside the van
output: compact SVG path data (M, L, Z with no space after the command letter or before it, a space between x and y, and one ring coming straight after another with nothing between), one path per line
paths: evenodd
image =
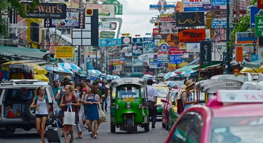
M36 114L36 129L41 136L41 142L45 142L45 126L46 120L49 118L48 98L45 96L45 88L39 86L35 90L35 97L30 105L30 109L34 109Z

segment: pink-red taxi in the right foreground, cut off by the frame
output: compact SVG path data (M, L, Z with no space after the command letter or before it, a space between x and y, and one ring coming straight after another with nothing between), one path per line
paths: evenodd
M219 90L177 120L164 143L262 143L263 92Z

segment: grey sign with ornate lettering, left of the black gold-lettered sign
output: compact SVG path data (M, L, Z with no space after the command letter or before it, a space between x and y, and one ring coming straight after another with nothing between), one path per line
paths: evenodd
M175 22L159 22L158 28L160 34L172 34L178 32Z

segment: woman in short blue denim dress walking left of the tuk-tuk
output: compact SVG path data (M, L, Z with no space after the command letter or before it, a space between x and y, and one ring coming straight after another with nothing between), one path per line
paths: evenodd
M91 86L91 91L89 94L86 95L85 100L82 100L82 103L87 105L87 119L86 124L88 125L88 128L92 131L90 137L93 137L94 139L97 138L97 130L98 130L98 120L99 120L99 114L98 114L98 104L100 100L100 96L96 94L95 86ZM91 121L94 121L94 129L92 128Z

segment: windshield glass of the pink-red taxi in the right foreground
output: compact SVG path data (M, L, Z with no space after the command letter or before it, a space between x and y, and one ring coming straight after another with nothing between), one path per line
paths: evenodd
M211 143L262 143L263 117L215 118Z

